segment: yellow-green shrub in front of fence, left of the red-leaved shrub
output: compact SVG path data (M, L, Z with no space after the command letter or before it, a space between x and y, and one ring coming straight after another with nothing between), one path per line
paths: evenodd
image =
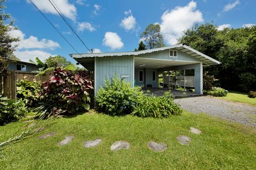
M24 80L17 82L17 98L22 99L28 107L35 107L39 97L40 86L41 82L31 82L24 77Z

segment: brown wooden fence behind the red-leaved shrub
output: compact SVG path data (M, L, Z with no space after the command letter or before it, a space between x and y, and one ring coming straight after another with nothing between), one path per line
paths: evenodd
M86 77L94 80L93 71L73 71L73 73L83 72ZM11 99L16 99L17 95L17 81L27 79L29 81L47 81L49 80L50 75L52 74L51 71L46 72L44 76L37 77L37 73L30 73L30 72L19 72L15 70L9 70L6 74L0 74L0 95L3 97L8 97ZM94 87L94 82L93 87ZM89 94L94 96L94 90L89 90Z

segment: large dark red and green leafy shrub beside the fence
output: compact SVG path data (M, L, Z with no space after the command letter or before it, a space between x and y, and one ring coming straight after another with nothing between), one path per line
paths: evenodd
M73 114L90 109L87 90L93 89L90 79L80 72L55 69L49 81L43 82L39 94L38 116L46 117L60 113Z

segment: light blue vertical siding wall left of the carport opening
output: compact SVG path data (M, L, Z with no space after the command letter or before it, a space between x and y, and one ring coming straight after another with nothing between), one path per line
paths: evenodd
M104 81L109 78L113 78L114 75L121 78L121 75L129 76L129 78L124 78L124 80L132 83L133 87L133 74L134 74L134 64L133 56L113 56L113 57L95 57L94 67L95 67L95 92L104 86Z

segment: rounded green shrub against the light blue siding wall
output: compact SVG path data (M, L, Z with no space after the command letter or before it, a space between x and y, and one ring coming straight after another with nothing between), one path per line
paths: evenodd
M100 111L113 116L125 115L132 113L142 94L140 87L131 88L131 83L115 76L105 81L105 87L97 91L95 100Z

